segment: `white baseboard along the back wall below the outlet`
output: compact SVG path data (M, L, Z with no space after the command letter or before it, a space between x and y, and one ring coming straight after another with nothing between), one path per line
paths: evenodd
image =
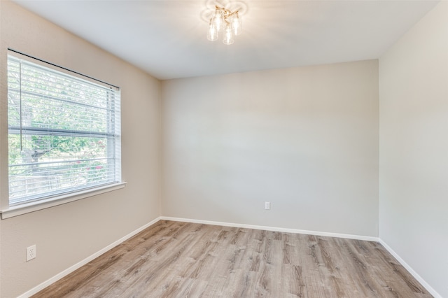
M304 229L287 229L287 228L283 228L283 227L267 227L267 226L262 226L262 225L244 225L244 224L235 224L235 223L230 223L230 222L214 222L214 221L210 221L210 220L192 220L189 218L170 218L167 216L161 216L160 220L172 220L172 221L176 221L176 222L194 222L194 223L200 223L200 224L204 224L204 225L221 225L223 227L244 227L246 229L264 229L266 231L274 231L274 232L307 234L307 235L316 235L316 236L329 236L329 237L356 239L356 240L374 241L374 242L379 241L378 237L372 237L372 236L338 234L338 233L329 233L329 232L316 232L316 231L307 231Z

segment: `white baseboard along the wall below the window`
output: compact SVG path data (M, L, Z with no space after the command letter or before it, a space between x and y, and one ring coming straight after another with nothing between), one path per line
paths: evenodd
M142 227L139 227L138 229L130 232L130 234L127 234L123 238L120 238L117 241L109 244L109 246L106 246L102 250L97 251L97 253L94 253L93 255L90 255L89 257L86 257L84 260L74 264L73 266L65 269L64 271L60 272L59 274L56 274L52 278L48 279L47 281L44 281L40 285L37 285L36 287L32 288L31 290L23 293L22 295L18 296L18 298L28 298L28 297L31 297L32 295L36 294L40 290L43 290L44 288L48 287L52 283L55 283L56 281L59 281L59 279L63 278L64 276L67 276L67 275L71 274L71 272L75 271L76 269L78 269L80 267L83 267L88 262L90 262L90 261L96 259L97 257L99 257L100 255L106 253L108 250L111 250L112 248L118 246L120 243L123 243L127 239L130 239L132 236L134 236L136 234L139 234L139 232L143 231L147 227L150 227L151 225L154 225L155 222L158 222L159 220L160 220L160 218L156 218L155 220L152 220L151 222L148 222L146 225L144 225Z

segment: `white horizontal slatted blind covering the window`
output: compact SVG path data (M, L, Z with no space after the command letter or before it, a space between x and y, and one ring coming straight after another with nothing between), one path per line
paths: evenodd
M121 182L120 91L8 55L9 205Z

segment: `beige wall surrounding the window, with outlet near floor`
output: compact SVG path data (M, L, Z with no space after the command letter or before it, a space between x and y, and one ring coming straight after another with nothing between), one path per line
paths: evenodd
M123 180L96 197L0 221L1 297L15 297L160 215L160 82L20 6L1 1L1 195L7 196L6 49L122 87ZM25 262L25 248L37 257Z

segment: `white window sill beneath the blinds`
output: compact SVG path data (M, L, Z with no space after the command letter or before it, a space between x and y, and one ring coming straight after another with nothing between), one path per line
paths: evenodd
M21 204L18 206L11 206L7 209L1 210L1 219L13 218L14 216L31 213L34 211L59 206L62 204L69 203L71 201L78 201L80 199L85 199L87 197L93 197L97 194L104 194L105 192L111 192L113 190L119 190L124 188L125 182L116 183L113 185L105 185L103 187L97 187L92 190L84 190L83 192L76 192L76 194L64 194L59 197L52 197L51 199L44 199L41 201L33 201L28 204Z

